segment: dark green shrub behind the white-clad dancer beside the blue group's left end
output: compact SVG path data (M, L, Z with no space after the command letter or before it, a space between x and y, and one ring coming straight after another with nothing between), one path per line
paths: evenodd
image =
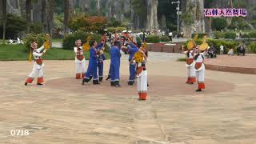
M78 31L75 32L73 34L66 34L64 39L63 39L63 49L66 50L73 50L74 46L75 46L75 41L78 39L81 39L82 44L86 42L87 37L90 35L90 37L94 40L96 40L97 42L100 42L102 39L102 36L100 34L89 34L86 32L82 32L82 31Z

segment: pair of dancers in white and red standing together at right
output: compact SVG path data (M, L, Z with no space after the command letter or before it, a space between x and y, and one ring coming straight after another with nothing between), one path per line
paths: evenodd
M194 54L193 48L188 48L184 52L186 54L186 68L187 68L187 84L194 84L194 82L198 81L198 90L197 92L205 89L205 50L200 49L197 54Z

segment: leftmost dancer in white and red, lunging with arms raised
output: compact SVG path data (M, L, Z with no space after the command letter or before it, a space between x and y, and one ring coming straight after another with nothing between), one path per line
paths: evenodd
M43 50L44 46L41 46L38 49L37 48L38 48L38 44L35 41L32 41L30 49L32 50L32 54L34 57L34 66L33 66L31 73L29 74L29 77L26 78L25 86L27 86L28 83L33 82L36 74L38 74L37 85L41 86L43 83L43 71L42 70L43 70L44 63L42 62L42 56L44 54L46 54L46 50ZM43 50L43 52L41 53L42 50Z

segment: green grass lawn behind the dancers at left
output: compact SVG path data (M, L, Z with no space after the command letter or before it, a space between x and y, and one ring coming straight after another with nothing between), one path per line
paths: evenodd
M1 45L0 44L0 61L23 61L28 60L28 52L25 51L24 45ZM89 59L89 52L85 53L86 59ZM106 53L106 58L110 54ZM43 56L46 60L74 60L73 50L63 50L50 48Z

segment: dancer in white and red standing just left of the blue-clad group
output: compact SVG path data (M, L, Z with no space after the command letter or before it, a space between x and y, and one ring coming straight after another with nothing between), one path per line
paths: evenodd
M83 55L83 50L82 50L82 42L81 39L78 39L75 44L77 45L74 47L74 54L75 54L75 60L74 62L76 63L76 79L81 79L85 76L86 68L86 59Z

